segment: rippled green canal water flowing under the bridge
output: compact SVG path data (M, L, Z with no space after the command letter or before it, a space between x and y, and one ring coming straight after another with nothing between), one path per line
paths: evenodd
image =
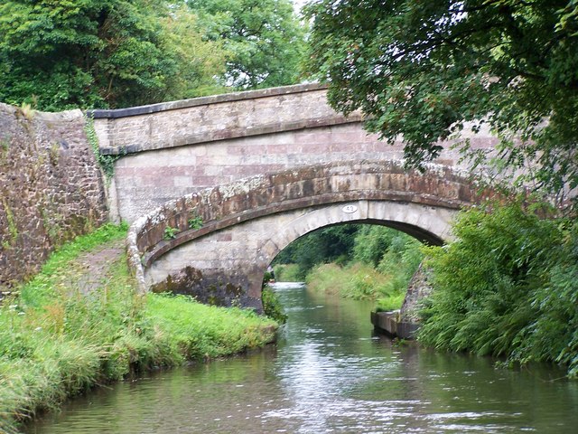
M567 433L578 382L376 336L367 303L276 291L279 342L90 392L28 433Z

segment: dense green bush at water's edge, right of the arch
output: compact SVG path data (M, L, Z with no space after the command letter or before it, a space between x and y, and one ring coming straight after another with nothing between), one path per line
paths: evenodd
M424 344L562 363L578 376L578 226L545 214L520 203L461 213L457 240L428 250Z

